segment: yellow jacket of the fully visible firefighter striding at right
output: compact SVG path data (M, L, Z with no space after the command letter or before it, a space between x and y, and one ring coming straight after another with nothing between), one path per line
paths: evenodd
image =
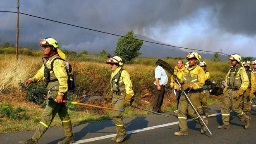
M239 69L237 69L239 68ZM248 85L249 85L249 79L247 76L247 73L244 69L244 67L242 66L237 66L236 68L234 68L234 70L237 71L237 75L234 76L234 78L232 78L230 80L230 76L233 76L235 72L232 72L230 74L230 71L232 70L232 68L230 68L230 70L227 72L226 78L225 78L225 87L230 87L230 86L237 86L242 90L246 90ZM233 82L234 79L234 82ZM234 83L234 85L233 85Z

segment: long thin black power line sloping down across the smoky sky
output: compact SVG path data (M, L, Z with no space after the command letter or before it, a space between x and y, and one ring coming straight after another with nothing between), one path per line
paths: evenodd
M11 12L11 11L0 11L0 12L17 13L17 12ZM85 28L85 27L82 27L82 26L76 26L76 25L73 25L73 24L67 24L67 23L64 23L64 22L61 22L61 21L55 21L55 20L52 20L52 19L46 19L46 18L43 18L43 17L37 17L37 16L31 15L31 14L25 14L25 13L22 13L22 12L19 12L19 13L27 15L27 16L31 16L31 17L36 17L36 18L39 18L39 19L45 19L45 20L48 20L48 21L54 21L54 22L57 22L57 23L60 23L60 24L65 24L65 25L74 26L74 27L78 27L78 28L84 28L84 29L91 30L91 31L96 31L96 32L99 32L99 33L115 35L115 36L119 36L119 37L123 37L123 38L130 38L130 37L114 34L114 33L108 33L108 32L105 32L105 31L98 31L98 30L91 29L91 28ZM130 39L140 40L140 39L136 39L136 38L130 38ZM154 43L154 44L158 44L158 45L165 45L165 46L169 46L169 47L177 47L177 48L186 49L186 50L196 50L196 51L202 51L202 52L213 52L213 51L207 51L207 50L197 50L197 49L192 49L192 48L187 48L187 47L178 47L178 46L174 46L174 45L167 45L167 44L158 43L158 42L151 42L151 41L148 41L148 40L141 40L141 41L149 42L149 43ZM222 52L213 52L213 53L225 54L225 53L222 53ZM225 55L230 55L230 54L225 54Z

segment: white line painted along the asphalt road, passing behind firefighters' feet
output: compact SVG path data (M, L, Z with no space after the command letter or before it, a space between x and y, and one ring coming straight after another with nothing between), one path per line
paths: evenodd
M256 105L253 105L254 107ZM232 111L230 111L232 112ZM208 117L211 117L211 116L217 116L217 115L220 115L221 113L215 113L215 114L211 114L209 115ZM203 116L203 118L206 118L205 116ZM188 119L188 121L192 121L193 119ZM136 133L136 132L143 132L143 131L146 131L146 130L153 130L153 129L156 129L156 128L160 128L160 127L167 127L167 126L170 126L170 125L176 125L176 124L179 124L179 121L176 121L176 122L172 122L172 123L166 123L166 124L163 124L163 125L156 125L156 126L153 126L153 127L146 127L146 128L141 128L141 129L138 129L138 130L131 130L131 131L128 131L126 132L127 134L132 134L132 133ZM92 141L96 141L96 140L100 140L100 139L108 139L108 138L111 138L111 137L115 137L117 134L112 134L112 135L105 135L105 136L101 136L101 137L93 137L93 138L90 138L90 139L83 139L83 140L79 140L77 142L75 142L74 144L83 144L85 142L92 142Z

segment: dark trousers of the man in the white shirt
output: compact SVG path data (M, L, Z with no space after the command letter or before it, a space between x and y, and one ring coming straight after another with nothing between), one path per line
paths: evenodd
M153 103L153 111L160 111L163 104L163 97L165 96L165 86L161 85L161 90L157 90L157 85L155 85L156 96Z

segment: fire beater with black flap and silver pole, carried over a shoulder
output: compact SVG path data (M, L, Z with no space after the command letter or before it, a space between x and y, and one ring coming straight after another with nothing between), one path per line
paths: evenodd
M173 67L170 64L168 64L167 62L165 62L165 61L163 61L161 59L158 59L158 61L156 61L156 64L158 66L161 66L162 68L164 68L166 71L168 71L170 74L172 74L174 76L174 69L173 69ZM179 81L178 80L176 80L176 81L179 84L179 86L181 87ZM203 124L206 126L207 130L212 135L211 131L208 129L207 125L204 123L203 118L200 116L200 114L196 111L195 107L191 103L191 101L190 101L189 97L187 96L186 92L184 92L184 90L182 90L182 92L184 93L185 97L187 98L187 101L189 102L189 104L192 106L192 108L196 112L197 116L199 116L199 118L202 120Z

